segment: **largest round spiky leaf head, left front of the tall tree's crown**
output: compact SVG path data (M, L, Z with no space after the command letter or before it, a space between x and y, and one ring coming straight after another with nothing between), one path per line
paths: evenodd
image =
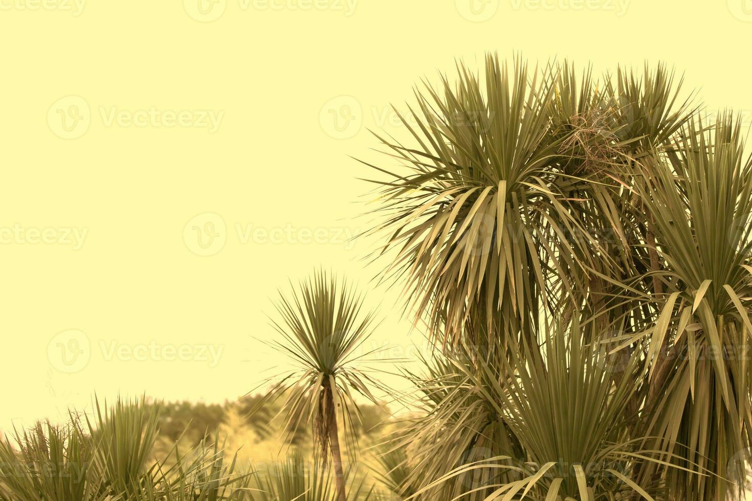
M558 204L548 166L562 142L550 74L520 61L510 72L494 56L484 81L458 71L456 87L442 77L442 89L417 92L417 125L403 118L416 146L380 138L405 169L375 167L389 176L377 181L385 220L375 231L397 253L385 276L405 276L417 316L451 343L473 317L491 323L500 312L515 332L536 323L550 251L538 229L569 224L548 210Z

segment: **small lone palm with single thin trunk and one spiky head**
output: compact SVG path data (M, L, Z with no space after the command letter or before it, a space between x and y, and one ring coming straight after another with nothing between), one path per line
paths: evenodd
M364 352L364 343L374 327L374 314L361 314L361 310L362 296L344 280L323 271L303 281L292 297L280 294L277 312L281 320L272 325L281 339L273 346L299 368L274 382L255 408L284 396L279 413L286 421L284 429L294 433L304 424L313 427L322 462L332 454L338 501L346 499L338 418L350 433L346 443L354 452L356 436L350 416L359 416L359 409L353 392L376 402L368 389L374 380L353 367L370 354Z

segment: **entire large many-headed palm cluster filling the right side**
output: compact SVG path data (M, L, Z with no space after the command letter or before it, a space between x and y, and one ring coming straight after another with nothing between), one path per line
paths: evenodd
M558 437L545 450L561 451L568 401L525 401L545 398L555 376L600 418L622 418L608 424L616 436L596 434L608 419L588 423L592 436L577 438L593 444L589 457L617 442L630 458L614 469L623 478L557 477L561 492L726 499L744 485L752 442L752 162L738 124L703 120L663 65L596 79L566 62L530 70L517 59L508 71L488 56L483 76L462 64L458 74L416 92L403 118L409 142L377 135L402 167L368 164L383 216L372 232L390 258L382 276L404 282L416 322L453 365L417 385L419 403L426 385L441 395L406 459L428 479L423 492L431 499L483 466L436 445L487 439L481 427L493 420L469 409L504 417L499 455L557 464L541 440ZM560 360L550 358L558 338ZM476 355L453 360L468 347ZM593 373L575 350L623 370ZM442 453L452 473L438 481L420 457ZM525 487L512 476L496 489L534 495L547 474L530 475Z

